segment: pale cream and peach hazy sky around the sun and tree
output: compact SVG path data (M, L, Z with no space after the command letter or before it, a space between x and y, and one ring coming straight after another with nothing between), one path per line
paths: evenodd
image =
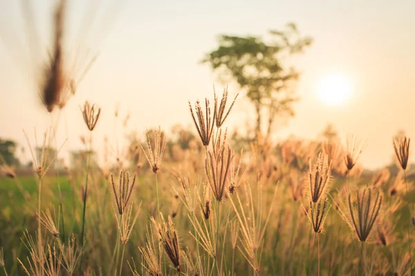
M70 1L68 37L76 38L82 30L82 14L91 1ZM415 1L124 0L116 6L111 1L120 3L101 1L85 36L68 39L69 50L82 46L99 52L99 57L59 118L57 142L67 138L66 149L80 148L79 137L87 133L80 112L86 100L102 108L94 130L97 148L104 135L122 147L122 123L113 115L116 106L121 118L131 114L129 127L139 137L144 137L145 128L158 125L165 130L175 124L190 126L187 101L212 97L212 85L219 90L223 85L199 62L217 46L218 34L262 36L288 22L314 41L295 59L302 72L297 85L301 101L295 105L296 117L277 129L278 139L314 139L326 124L333 124L344 140L353 133L367 141L360 161L375 169L392 161L391 139L398 130L415 137ZM43 49L48 46L53 2L32 1L33 25ZM31 139L33 128L41 136L50 115L39 103L19 1L0 0L0 27L0 137L25 146L22 129ZM344 77L353 87L336 105L320 97L319 83L330 75ZM238 92L234 85L229 90L230 95ZM240 97L226 124L243 125L254 115L249 106ZM57 119L57 113L53 116Z

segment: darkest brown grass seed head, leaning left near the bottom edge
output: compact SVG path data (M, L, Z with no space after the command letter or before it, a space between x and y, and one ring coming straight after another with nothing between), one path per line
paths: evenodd
M180 245L178 243L178 235L176 228L174 227L172 217L169 216L167 222L161 213L160 217L162 224L158 224L154 217L151 217L151 221L153 222L154 226L156 226L158 239L160 243L163 244L167 257L169 257L177 272L181 273Z

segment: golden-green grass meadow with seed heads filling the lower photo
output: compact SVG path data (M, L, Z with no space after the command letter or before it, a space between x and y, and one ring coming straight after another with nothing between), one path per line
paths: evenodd
M172 141L154 128L120 150L111 166L91 161L89 152L100 149L89 139L75 166L48 171L56 159L45 150L53 130L33 155L33 177L3 164L4 273L412 273L409 140L394 139L397 165L378 172L358 164L365 144L356 136L342 146L338 137L272 144L259 135L234 150L241 145L224 127L233 103L226 92L212 103L206 100L207 110L190 104L196 130L190 139L183 131ZM90 137L95 124L104 124L99 114L85 104Z

